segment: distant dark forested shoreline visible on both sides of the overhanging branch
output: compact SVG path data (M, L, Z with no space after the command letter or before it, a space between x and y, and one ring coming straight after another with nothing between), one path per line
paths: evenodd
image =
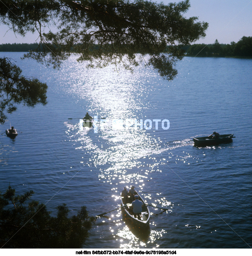
M27 52L38 48L39 45L33 44L0 44L0 51L23 51ZM42 48L42 46L40 46ZM53 48L53 47L52 47ZM98 46L94 45L93 50ZM220 44L216 39L214 44L193 44L181 45L186 56L199 57L252 57L252 37L242 37L239 42L230 44Z

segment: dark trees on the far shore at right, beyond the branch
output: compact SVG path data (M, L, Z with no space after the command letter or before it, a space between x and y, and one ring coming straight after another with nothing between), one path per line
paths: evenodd
M186 56L199 57L252 57L252 37L242 37L239 42L220 44L216 39L214 44L193 44L187 46Z

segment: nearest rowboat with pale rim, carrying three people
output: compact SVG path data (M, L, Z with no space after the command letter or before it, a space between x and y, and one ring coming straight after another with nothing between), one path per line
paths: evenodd
M142 213L141 213L141 219L138 219L133 215L133 212L130 210L131 206L131 199L128 197L127 202L123 202L123 197L121 196L121 206L127 205L125 207L122 207L122 217L124 218L125 222L128 224L130 223L133 225L133 227L137 227L139 229L146 229L149 227L149 219L150 219L150 211L147 205L145 205L145 202L141 195L137 193L139 196L138 200L142 201L144 203L144 207L142 207Z

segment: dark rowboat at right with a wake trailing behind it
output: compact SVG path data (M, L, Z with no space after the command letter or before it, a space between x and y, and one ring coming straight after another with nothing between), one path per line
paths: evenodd
M229 143L232 141L234 134L224 134L220 135L219 138L209 138L209 137L196 137L193 138L194 145L196 147L206 147L218 145L221 143Z

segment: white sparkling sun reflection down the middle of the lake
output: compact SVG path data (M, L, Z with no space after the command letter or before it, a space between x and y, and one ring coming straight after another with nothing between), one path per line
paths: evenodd
M69 73L68 70L66 72ZM68 93L88 95L88 99L92 102L90 109L99 109L99 113L95 114L106 117L110 121L118 118L123 120L139 118L138 111L147 107L145 99L148 97L150 86L141 82L141 75L137 78L137 76L132 77L130 73L123 72L115 76L111 72L113 70L107 69L105 75L99 76L98 79L97 74L92 77L94 74L90 72L88 81L78 82L76 86L71 87ZM76 71L71 71L71 75L76 77ZM86 75L84 77L79 75L78 81L84 81L85 78ZM144 100L141 100L142 98ZM78 131L78 124L66 122L65 125L68 128L67 135L73 145L81 144L75 149L86 151L85 153L89 154L88 160L92 163L91 167L99 170L99 180L113 186L111 197L117 202L122 187L134 184L138 190L143 190L146 181L152 179L148 177L149 173L154 169L161 171L158 169L161 161L150 155L159 154L167 149L161 145L160 138L150 136L144 129L136 130L131 126L127 130L114 130L110 122L104 126L103 130L99 129L99 133L95 134L92 129ZM154 163L150 164L149 161L146 163L144 160L146 158L153 160ZM149 199L151 199L150 196ZM155 200L153 203L162 206L170 205L165 198ZM118 218L120 213L116 216L111 214L110 217L111 219ZM151 230L150 235L141 240L141 234L136 234L132 228L130 232L127 226L122 225L122 219L113 220L113 223L117 228L109 227L109 230L115 240L120 241L120 248L146 247L149 243L157 247L156 240L165 232ZM156 224L153 221L151 225Z

